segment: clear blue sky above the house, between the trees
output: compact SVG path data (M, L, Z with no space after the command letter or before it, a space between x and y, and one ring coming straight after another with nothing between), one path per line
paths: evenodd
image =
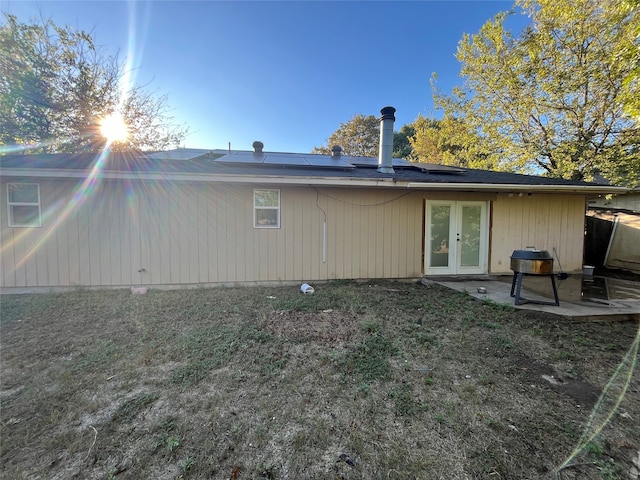
M454 55L511 1L15 1L3 12L92 33L167 94L183 146L309 152L354 114L396 107L396 130L433 113L431 74L460 84ZM527 19L513 21L520 28Z

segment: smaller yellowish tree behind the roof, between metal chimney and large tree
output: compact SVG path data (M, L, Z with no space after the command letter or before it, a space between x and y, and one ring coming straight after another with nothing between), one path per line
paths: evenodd
M415 134L410 141L416 161L485 170L498 168L499 157L464 121L449 116L442 119L419 116L414 126Z

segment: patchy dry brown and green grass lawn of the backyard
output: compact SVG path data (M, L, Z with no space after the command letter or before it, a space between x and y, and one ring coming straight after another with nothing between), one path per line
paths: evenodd
M3 478L633 478L637 324L314 286L3 296Z

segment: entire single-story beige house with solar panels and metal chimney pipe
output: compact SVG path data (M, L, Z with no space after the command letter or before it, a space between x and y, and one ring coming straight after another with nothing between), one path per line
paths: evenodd
M0 286L121 287L580 271L587 196L615 187L380 156L178 149L0 156ZM391 146L390 146L391 145Z

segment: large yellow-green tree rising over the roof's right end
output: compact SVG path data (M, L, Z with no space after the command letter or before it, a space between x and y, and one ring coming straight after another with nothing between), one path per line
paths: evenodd
M640 11L624 2L517 0L532 23L514 36L500 13L464 35L465 82L451 96L436 89L436 105L478 132L496 168L637 184L640 132L624 108L640 91L613 52L628 47Z

